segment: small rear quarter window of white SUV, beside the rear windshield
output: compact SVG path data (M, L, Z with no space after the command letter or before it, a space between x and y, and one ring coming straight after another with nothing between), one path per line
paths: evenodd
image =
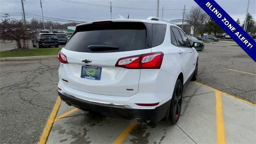
M162 44L166 33L166 24L153 24L152 31L152 47Z

